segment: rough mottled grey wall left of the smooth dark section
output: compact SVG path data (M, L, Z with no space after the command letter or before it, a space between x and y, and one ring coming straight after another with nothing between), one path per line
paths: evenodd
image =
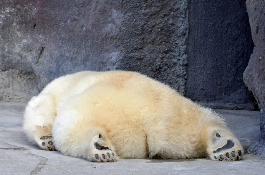
M0 100L81 70L133 70L185 93L187 0L6 0L0 11Z

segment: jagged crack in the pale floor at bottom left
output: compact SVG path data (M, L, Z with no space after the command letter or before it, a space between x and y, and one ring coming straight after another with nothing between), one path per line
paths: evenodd
M36 157L36 158L38 158L40 160L39 163L37 164L37 166L35 166L35 168L31 171L30 175L39 174L39 172L41 172L43 166L45 165L45 163L48 160L46 157L42 157L42 156L39 156L37 154L33 154L33 153L29 152L28 149L26 149L24 147L18 147L16 145L11 145L9 143L6 143L6 142L0 140L0 143L1 142L6 144L6 145L11 146L11 148L0 148L0 149L19 150L19 151L21 151L24 154L34 156L34 157Z

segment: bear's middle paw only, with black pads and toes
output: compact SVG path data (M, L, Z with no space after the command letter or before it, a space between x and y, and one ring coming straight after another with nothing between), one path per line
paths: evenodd
M106 136L105 136L106 137ZM88 159L93 162L114 162L118 159L113 146L104 135L95 135L90 142Z

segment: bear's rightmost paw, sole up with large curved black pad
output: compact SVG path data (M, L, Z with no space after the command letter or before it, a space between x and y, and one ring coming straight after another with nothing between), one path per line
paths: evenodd
M226 127L211 126L206 131L207 153L212 160L240 160L244 149L235 135Z

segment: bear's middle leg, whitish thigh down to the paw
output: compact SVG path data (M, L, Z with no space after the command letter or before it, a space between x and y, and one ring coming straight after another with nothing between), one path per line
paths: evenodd
M67 122L62 125L62 121ZM70 108L59 110L52 128L56 150L64 155L93 162L116 161L118 156L110 136L104 127L98 126L98 123L100 122L82 118Z

